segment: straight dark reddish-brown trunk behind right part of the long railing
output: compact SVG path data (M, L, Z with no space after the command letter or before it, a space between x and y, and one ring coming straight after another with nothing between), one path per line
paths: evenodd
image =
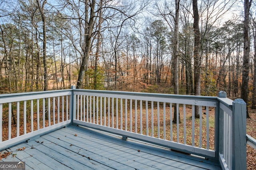
M197 0L192 0L193 14L194 14L194 93L201 95L201 57L199 55L200 49L200 30L199 30L199 14L197 7ZM195 117L199 118L199 107L195 107Z

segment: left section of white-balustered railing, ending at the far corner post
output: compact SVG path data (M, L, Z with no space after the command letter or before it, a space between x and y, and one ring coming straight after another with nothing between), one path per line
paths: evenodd
M71 90L0 95L0 150L71 123Z

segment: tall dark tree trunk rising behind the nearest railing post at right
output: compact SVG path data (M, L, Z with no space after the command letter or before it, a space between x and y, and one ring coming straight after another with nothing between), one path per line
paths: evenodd
M250 22L250 6L252 0L244 0L244 62L242 73L241 98L248 105L248 81L249 81L249 60L250 60L250 41L249 41L249 22ZM248 109L246 109L246 117L250 118Z

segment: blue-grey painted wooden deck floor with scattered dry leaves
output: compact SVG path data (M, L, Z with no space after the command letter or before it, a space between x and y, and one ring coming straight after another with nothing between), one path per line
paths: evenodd
M220 169L198 156L74 125L7 151L1 161L24 161L26 169Z

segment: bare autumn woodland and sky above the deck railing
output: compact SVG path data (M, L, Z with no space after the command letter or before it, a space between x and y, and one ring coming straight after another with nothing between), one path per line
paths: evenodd
M0 94L163 86L224 90L255 109L255 11L252 0L1 0Z

